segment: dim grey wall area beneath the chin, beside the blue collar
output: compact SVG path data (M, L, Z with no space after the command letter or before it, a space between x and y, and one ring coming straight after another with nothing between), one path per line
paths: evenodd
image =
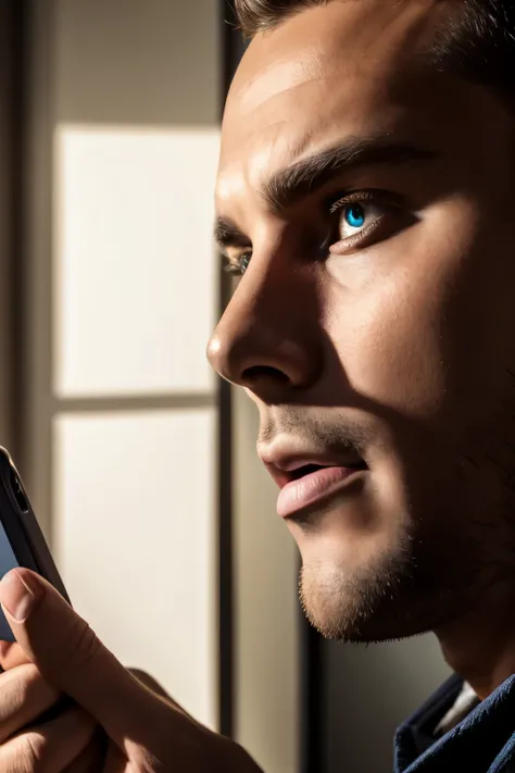
M367 648L326 641L323 652L327 773L391 773L397 726L451 673L436 637Z

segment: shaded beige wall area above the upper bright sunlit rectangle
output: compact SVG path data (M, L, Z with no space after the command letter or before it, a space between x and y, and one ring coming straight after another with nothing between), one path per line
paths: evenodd
M66 63L58 78L59 120L176 127L216 123L219 70L206 61L216 46L217 16L210 5L205 0L56 0L55 54Z

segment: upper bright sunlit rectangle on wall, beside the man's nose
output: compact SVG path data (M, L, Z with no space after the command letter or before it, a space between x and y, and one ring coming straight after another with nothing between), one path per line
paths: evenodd
M218 128L55 130L53 391L208 391Z

